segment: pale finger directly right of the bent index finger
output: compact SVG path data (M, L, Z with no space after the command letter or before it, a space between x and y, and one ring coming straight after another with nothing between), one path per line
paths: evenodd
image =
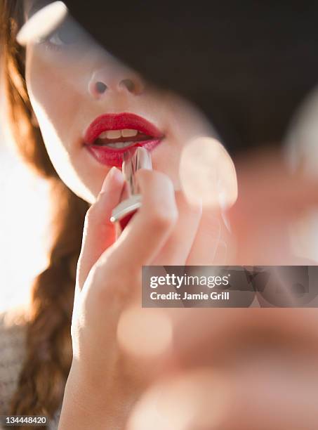
M183 192L175 193L178 222L173 232L151 262L152 266L184 266L201 219L201 206L190 204Z

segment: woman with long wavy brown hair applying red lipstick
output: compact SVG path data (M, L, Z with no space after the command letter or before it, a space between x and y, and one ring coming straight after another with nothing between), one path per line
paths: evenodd
M61 425L79 428L81 413L72 415L78 408L83 420L89 409L96 423L121 428L147 378L145 363L119 348L119 315L138 300L140 266L203 261L206 230L200 209L180 193L178 164L191 139L214 133L190 103L152 87L71 18L19 46L17 31L36 4L1 1L1 46L13 135L25 161L52 184L55 236L22 328L18 385L10 385L1 414L52 418L69 375ZM118 167L123 148L137 142L149 145L154 171L138 172L143 207L115 242L108 220L123 185ZM232 167L227 152L211 145L218 163ZM212 218L219 237L222 220ZM208 261L211 249L204 252Z

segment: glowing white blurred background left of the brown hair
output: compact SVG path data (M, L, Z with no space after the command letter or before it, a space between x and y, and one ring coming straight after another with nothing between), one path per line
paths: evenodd
M15 154L2 102L0 109L1 312L28 302L32 280L46 265L49 202L46 182L32 174Z

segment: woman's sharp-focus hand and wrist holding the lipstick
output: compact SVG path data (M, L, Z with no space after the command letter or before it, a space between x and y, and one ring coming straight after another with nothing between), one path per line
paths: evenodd
M109 219L123 185L117 169L108 174L98 200L86 216L72 317L73 361L60 417L61 430L122 429L131 405L147 386L146 363L122 350L117 325L128 306L140 306L141 267L159 256L164 258L165 249L165 261L177 261L175 254L181 249L176 231L182 232L175 228L178 210L168 177L140 170L137 178L143 206L116 242ZM187 249L199 216L186 211L180 215L181 223L189 221L192 225ZM152 365L149 363L148 368Z

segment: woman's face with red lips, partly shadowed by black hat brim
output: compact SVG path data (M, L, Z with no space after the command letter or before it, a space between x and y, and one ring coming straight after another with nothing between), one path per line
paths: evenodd
M25 1L27 19L33 6L33 0ZM56 171L91 203L107 171L120 168L126 145L145 145L154 169L178 188L184 146L197 136L213 135L201 112L155 89L71 18L46 39L27 44L26 81Z

